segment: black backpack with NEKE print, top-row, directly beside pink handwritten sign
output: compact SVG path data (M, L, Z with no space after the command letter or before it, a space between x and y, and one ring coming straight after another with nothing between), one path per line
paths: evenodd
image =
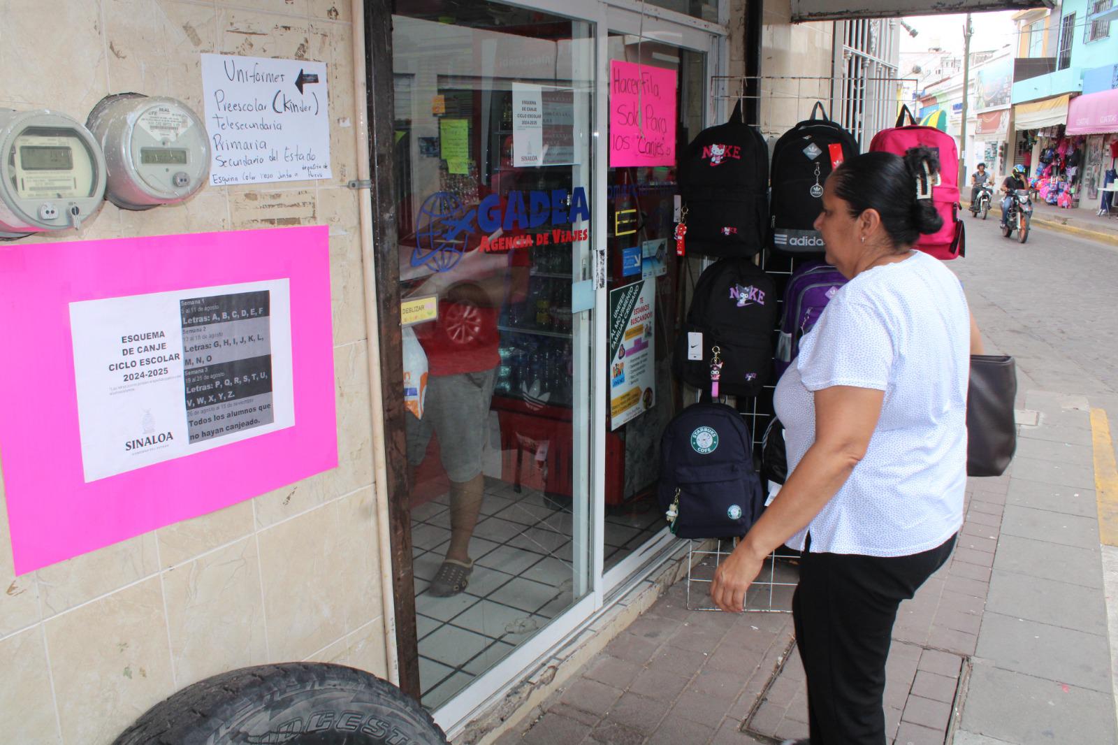
M686 147L679 167L684 251L752 256L768 226L768 145L741 117L710 126Z

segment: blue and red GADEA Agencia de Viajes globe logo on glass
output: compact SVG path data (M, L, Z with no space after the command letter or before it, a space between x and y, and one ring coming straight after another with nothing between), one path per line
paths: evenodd
M416 247L411 251L411 266L448 272L462 260L470 238L477 233L482 234L477 248L486 253L586 241L590 237L589 229L567 230L559 227L492 241L489 236L498 230L530 230L543 225L571 225L589 219L590 206L582 187L576 187L574 191L510 191L503 199L491 194L480 205L468 209L453 194L436 191L424 200L416 214Z

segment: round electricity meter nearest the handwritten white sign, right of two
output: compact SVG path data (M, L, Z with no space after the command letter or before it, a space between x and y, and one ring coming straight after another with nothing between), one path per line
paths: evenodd
M106 96L89 112L86 126L105 153L105 190L117 207L173 205L206 183L209 138L181 101L139 93Z

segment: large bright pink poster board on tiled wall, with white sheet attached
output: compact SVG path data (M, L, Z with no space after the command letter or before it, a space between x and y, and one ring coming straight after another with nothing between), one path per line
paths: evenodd
M16 574L338 465L325 226L0 245Z

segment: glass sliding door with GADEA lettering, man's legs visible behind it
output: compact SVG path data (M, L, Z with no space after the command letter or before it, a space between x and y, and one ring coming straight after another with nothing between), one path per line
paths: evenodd
M594 587L595 25L428 0L392 27L400 456L435 709Z

